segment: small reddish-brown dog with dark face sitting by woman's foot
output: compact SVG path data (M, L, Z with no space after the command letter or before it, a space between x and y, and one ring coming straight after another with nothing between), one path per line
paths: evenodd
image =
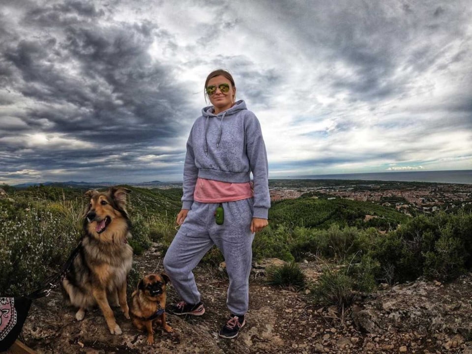
M166 323L167 274L149 274L140 280L138 289L131 295L130 315L133 324L148 331L148 345L154 343L153 324L160 324L168 333L173 329Z

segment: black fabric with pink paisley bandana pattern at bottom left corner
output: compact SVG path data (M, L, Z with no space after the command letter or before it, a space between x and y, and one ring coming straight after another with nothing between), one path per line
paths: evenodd
M18 338L30 306L28 297L0 297L0 352L10 348Z

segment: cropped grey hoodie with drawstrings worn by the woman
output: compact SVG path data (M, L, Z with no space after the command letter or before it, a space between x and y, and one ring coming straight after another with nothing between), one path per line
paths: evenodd
M270 207L267 154L257 117L239 100L230 109L213 114L205 107L187 141L183 168L182 208L190 209L197 177L244 183L254 177L254 215L267 219Z

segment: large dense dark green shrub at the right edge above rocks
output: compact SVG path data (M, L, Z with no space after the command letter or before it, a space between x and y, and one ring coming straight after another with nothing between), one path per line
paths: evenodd
M439 212L419 215L378 239L371 257L381 265L388 283L425 275L453 279L472 266L472 216Z

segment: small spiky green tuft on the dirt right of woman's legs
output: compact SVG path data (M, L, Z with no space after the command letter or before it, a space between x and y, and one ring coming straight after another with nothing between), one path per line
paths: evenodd
M303 270L294 262L283 266L271 266L266 269L267 284L300 290L306 286L306 276Z

